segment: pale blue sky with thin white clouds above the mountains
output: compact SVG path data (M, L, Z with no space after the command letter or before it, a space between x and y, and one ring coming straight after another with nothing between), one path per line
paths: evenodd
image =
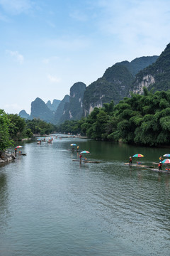
M62 100L113 64L160 55L170 43L169 0L0 0L0 109Z

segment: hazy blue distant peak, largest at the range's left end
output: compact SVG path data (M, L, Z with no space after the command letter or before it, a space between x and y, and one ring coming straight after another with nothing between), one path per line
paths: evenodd
M47 107L45 102L37 97L33 102L31 102L30 117L31 119L40 118L45 122L52 122L54 118L54 114Z

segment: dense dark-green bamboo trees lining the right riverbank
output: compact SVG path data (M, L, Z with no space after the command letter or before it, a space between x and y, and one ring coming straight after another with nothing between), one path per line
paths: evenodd
M81 124L81 122L83 122ZM79 123L79 125L78 125ZM80 125L81 124L81 125ZM58 127L61 132L75 132L92 139L104 139L128 144L157 146L170 143L170 90L132 94L118 105L104 104L94 108L88 117L79 121L67 121Z

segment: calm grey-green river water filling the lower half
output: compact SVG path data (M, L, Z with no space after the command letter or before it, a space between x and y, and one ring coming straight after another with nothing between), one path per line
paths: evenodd
M72 161L72 143L101 163ZM0 256L169 255L170 175L125 163L170 149L65 138L22 151L0 166Z

